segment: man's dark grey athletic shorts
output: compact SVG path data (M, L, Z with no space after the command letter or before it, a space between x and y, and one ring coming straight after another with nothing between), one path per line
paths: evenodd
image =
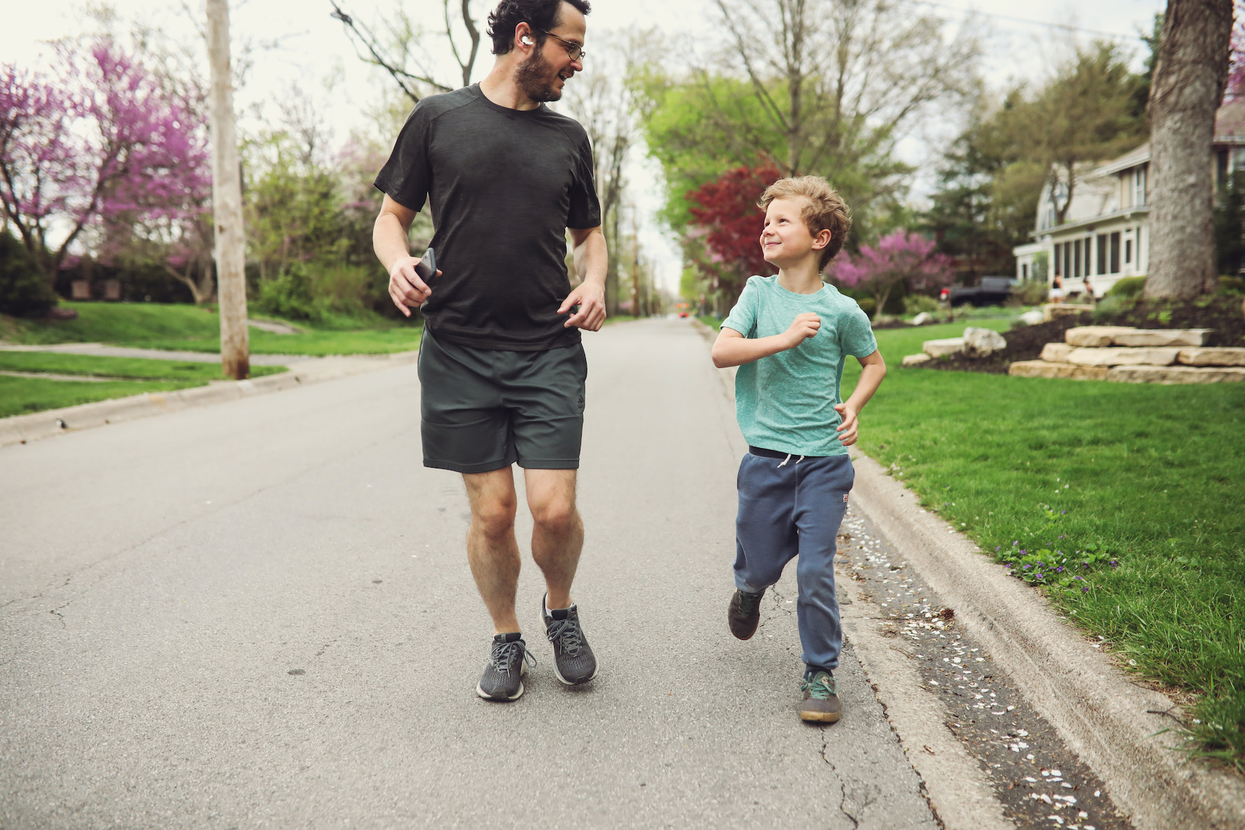
M544 352L420 343L423 465L487 473L579 469L588 360L580 343Z

